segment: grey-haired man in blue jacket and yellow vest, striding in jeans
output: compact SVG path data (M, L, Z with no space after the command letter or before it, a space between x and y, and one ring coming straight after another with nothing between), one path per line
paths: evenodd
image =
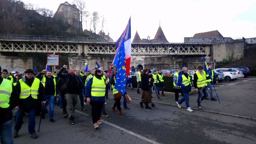
M177 106L181 108L181 104L185 101L187 111L193 112L193 110L189 106L189 96L188 93L191 91L191 82L190 76L188 75L188 68L183 67L181 74L178 76L178 86L180 86L180 90L184 94L179 101L176 102Z

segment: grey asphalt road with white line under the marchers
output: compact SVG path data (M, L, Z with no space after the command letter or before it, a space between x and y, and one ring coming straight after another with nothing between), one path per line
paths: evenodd
M51 123L46 115L46 119L41 122L40 132L37 132L40 120L37 116L38 138L32 139L28 133L28 116L25 116L19 137L14 138L14 143L255 144L255 86L256 79L253 77L221 82L216 85L220 103L202 101L203 111L195 109L197 93L191 93L192 113L186 111L185 103L182 103L182 109L175 105L174 93L166 93L167 96L161 97L161 100L154 93L156 107L151 110L142 109L139 105L141 95L129 89L132 102L128 104L130 110L123 110L124 116L112 112L114 100L109 91L110 100L106 101L106 112L110 117L101 117L103 124L97 130L93 128L90 105L85 106L87 111L80 110L80 103L76 105L75 125L70 125L69 120L63 117L62 109L55 105L55 123Z

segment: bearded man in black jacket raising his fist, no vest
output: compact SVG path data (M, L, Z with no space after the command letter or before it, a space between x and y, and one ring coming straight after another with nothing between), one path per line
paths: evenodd
M66 101L67 101L67 107L68 107L68 118L70 119L70 124L74 125L74 111L76 108L76 103L77 103L77 96L79 92L85 88L82 80L75 75L75 68L70 67L68 70L68 74L62 74L64 68L67 68L67 65L64 65L60 71L58 72L58 76L60 78L63 78L65 80L65 85L62 86L63 89L66 87L65 93L66 93ZM63 91L63 90L62 90Z

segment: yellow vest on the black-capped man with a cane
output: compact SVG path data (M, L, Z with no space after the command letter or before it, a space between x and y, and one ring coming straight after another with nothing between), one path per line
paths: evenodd
M25 82L23 82L22 79L20 79L19 81L20 99L26 99L27 97L29 97L30 94L34 99L37 99L40 80L38 78L35 78L31 87L29 87Z

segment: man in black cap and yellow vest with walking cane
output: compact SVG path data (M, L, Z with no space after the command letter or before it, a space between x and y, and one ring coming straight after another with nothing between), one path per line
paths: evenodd
M18 81L15 88L20 95L20 101L18 106L14 109L18 110L13 137L18 137L18 131L22 126L23 114L28 112L28 132L32 138L37 138L35 133L35 109L38 100L42 103L46 103L46 98L44 95L44 86L38 78L34 77L34 71L27 69L24 72L22 79Z

